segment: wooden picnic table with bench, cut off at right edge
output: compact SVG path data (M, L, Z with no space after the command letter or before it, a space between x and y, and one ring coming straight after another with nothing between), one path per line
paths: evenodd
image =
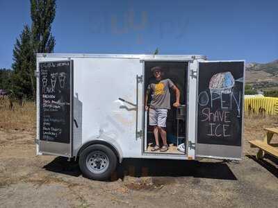
M278 158L278 144L270 144L273 135L278 135L278 128L263 128L266 133L263 141L252 140L248 141L251 148L259 148L258 153L256 153L257 159L263 159L263 155L268 153L274 157Z

